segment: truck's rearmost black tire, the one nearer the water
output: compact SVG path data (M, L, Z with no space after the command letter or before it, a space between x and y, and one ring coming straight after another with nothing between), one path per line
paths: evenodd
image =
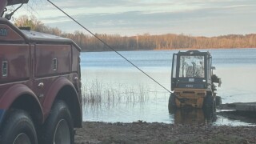
M49 117L40 132L40 144L73 144L74 126L70 110L62 100L54 102Z

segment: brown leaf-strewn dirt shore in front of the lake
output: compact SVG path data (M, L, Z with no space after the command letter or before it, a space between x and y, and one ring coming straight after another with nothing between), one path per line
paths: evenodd
M256 126L84 122L75 143L256 143Z

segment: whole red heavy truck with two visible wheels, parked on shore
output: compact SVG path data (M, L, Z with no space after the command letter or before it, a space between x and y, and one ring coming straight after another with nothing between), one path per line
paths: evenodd
M28 0L1 0L6 6ZM70 144L82 127L80 48L0 18L0 143Z

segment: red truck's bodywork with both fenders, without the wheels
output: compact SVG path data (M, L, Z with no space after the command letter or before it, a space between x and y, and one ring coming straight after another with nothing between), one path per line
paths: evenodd
M58 94L68 90L65 97L74 102L66 102L75 113L74 126L82 126L80 51L68 38L19 30L0 18L0 122L14 102L32 98L35 104L30 108L38 109L42 123L55 98L62 98Z

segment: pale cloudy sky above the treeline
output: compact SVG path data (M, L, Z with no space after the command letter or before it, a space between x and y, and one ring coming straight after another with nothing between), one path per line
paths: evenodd
M256 33L256 0L51 0L94 34ZM46 26L82 30L46 0L30 0L14 15L34 14Z

